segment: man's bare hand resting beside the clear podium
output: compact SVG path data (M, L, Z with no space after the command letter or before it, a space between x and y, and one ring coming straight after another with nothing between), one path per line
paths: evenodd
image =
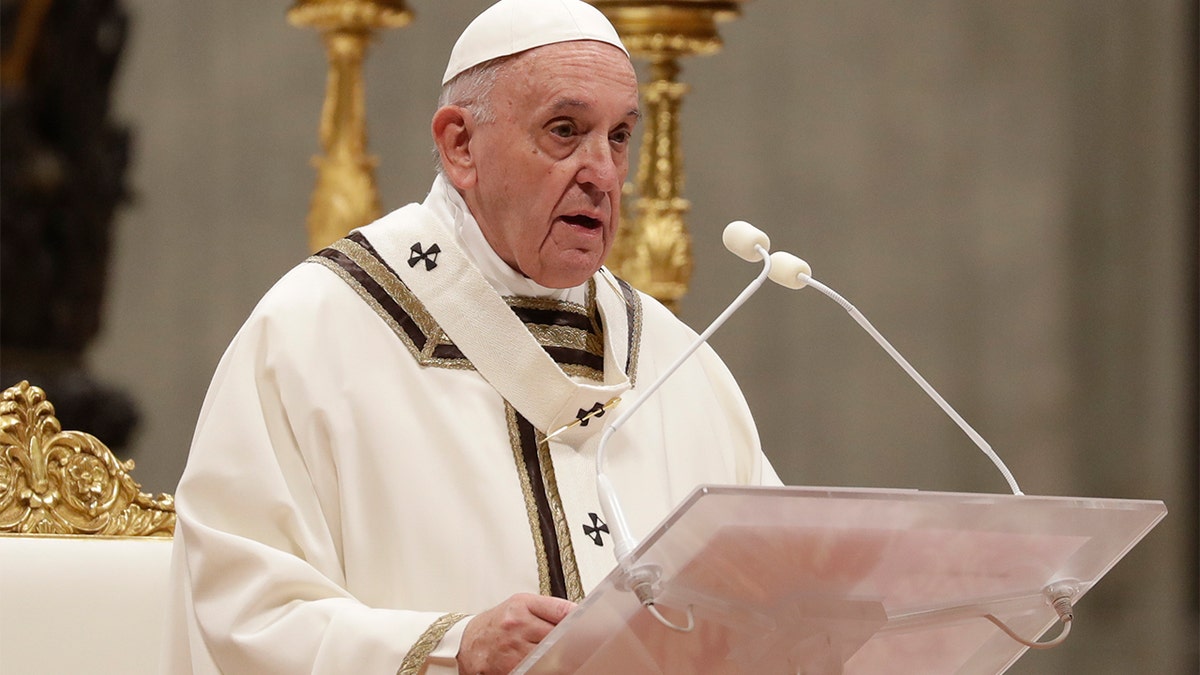
M510 673L572 609L562 598L517 593L476 615L462 632L458 673Z

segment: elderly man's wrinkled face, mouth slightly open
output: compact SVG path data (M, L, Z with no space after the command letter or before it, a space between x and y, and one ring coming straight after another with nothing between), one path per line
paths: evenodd
M637 123L637 76L602 42L521 54L491 95L496 120L470 138L474 184L463 190L504 262L551 288L577 286L604 264Z

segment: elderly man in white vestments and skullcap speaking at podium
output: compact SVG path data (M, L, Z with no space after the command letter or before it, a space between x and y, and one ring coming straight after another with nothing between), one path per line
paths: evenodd
M466 29L428 197L289 271L217 368L168 670L506 673L611 571L599 431L695 338L601 267L637 120L589 5ZM778 483L707 348L607 458L637 536L697 484Z

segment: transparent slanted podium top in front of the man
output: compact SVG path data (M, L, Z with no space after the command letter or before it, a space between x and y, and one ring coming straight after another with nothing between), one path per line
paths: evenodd
M1165 514L1140 500L702 486L515 673L1002 673L1028 647L988 615L1036 639L1058 622L1052 595L1078 601Z

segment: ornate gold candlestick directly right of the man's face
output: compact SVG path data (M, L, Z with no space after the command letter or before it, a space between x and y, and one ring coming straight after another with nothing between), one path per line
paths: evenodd
M688 85L677 80L678 59L721 48L716 24L740 16L745 0L588 0L617 28L629 52L650 62L641 84L646 131L637 162L632 214L622 208L622 232L608 265L673 311L691 279L691 237L684 216L679 109Z

